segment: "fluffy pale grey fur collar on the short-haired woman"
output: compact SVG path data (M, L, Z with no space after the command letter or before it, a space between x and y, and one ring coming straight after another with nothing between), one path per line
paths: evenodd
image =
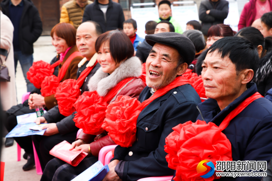
M139 58L132 57L123 61L115 71L108 75L100 67L88 82L89 91L97 91L100 96L105 96L121 80L128 77L139 77L142 74L142 64Z

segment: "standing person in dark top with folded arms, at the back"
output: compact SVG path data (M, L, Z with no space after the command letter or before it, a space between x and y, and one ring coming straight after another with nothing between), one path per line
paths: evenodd
M229 2L226 0L203 0L199 6L199 20L202 22L204 35L212 25L224 24L224 20L229 14Z

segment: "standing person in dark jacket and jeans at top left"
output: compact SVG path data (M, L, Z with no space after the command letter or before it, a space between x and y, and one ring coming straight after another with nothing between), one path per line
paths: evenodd
M14 4L13 4L14 3ZM42 22L38 9L31 0L21 0L12 2L3 0L1 9L12 22L13 49L15 72L18 60L22 66L24 77L27 83L28 92L34 88L33 84L27 79L27 72L33 63L33 43L37 41L42 33Z

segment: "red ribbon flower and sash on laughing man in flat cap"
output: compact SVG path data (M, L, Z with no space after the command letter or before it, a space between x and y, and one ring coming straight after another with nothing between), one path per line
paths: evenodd
M116 144L121 147L131 147L136 140L136 122L141 111L156 98L185 84L191 83L187 78L179 76L169 85L155 91L141 104L136 98L118 96L116 101L108 106L102 128L109 132L108 135Z

